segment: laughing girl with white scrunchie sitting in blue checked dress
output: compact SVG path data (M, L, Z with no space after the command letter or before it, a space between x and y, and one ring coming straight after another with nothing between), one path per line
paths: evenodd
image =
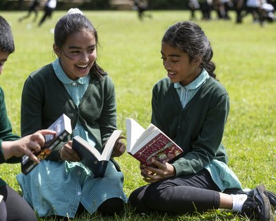
M47 127L62 113L70 117L72 135L79 135L101 152L117 128L115 86L97 64L98 33L78 9L57 21L53 50L57 59L34 71L23 86L21 133ZM118 141L113 156L126 150ZM124 209L124 175L115 160L104 177L93 177L72 149L72 140L32 173L17 176L25 198L40 217L74 218L84 210L114 215Z

